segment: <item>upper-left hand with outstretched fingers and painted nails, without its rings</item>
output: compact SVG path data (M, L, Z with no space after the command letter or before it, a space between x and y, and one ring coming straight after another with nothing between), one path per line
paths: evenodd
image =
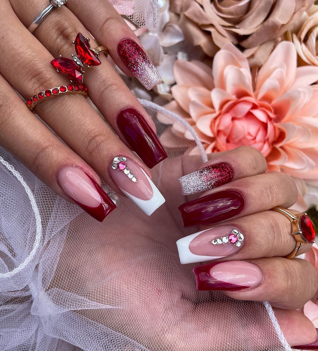
M12 87L28 99L49 88L67 86L66 75L57 73L50 62L59 55L70 58L78 32L90 37L86 28L108 47L125 73L135 74L148 89L160 81L158 72L108 1L69 0L68 7L54 9L43 20L34 37L27 27L43 11L44 3L4 0L0 4L0 145L57 194L100 221L116 206L100 187L98 176L150 215L164 199L149 178L149 168L167 154L149 115L103 55L100 66L84 67L85 85L113 130L78 94L61 94L36 105L43 124ZM90 44L98 46L95 40ZM137 182L132 175L113 170L117 156L127 158L126 168Z

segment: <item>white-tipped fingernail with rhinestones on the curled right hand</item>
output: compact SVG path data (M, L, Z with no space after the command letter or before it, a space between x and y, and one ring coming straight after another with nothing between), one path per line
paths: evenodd
M177 242L181 264L210 261L238 252L244 235L236 227L225 225L188 235Z

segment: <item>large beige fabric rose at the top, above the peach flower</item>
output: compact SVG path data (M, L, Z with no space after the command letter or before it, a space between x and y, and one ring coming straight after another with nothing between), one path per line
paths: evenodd
M179 26L213 57L224 44L245 48L252 66L262 64L314 0L171 0Z

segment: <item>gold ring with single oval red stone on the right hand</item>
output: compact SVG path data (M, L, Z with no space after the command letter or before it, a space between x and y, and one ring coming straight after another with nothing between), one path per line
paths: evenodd
M291 234L296 240L296 246L289 255L285 256L285 258L288 258L290 260L293 259L305 245L312 245L315 242L314 239L316 234L314 226L307 213L303 212L293 214L290 211L286 210L286 208L279 206L276 206L271 210L283 214L290 220L292 224Z

